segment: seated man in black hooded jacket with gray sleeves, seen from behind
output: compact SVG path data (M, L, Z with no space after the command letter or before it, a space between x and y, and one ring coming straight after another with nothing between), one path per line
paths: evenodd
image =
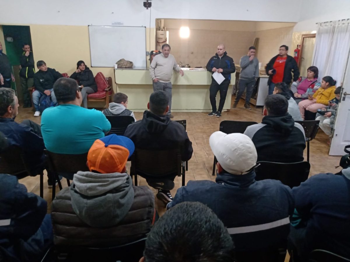
M288 101L282 95L266 97L261 123L248 126L244 134L252 139L258 152L258 162L294 163L304 160L304 129L288 114Z

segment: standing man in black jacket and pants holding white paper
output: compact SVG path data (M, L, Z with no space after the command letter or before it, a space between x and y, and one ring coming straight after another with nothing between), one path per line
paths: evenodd
M209 98L212 111L208 116L216 115L216 117L221 117L221 111L224 108L227 90L230 85L231 74L236 71L233 59L229 57L225 51L225 45L218 45L217 53L210 58L206 68L209 72L213 72L209 88ZM219 108L216 110L216 94L218 91L220 91L220 102Z

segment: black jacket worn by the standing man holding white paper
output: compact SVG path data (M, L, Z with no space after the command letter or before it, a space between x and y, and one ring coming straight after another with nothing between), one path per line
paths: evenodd
M226 51L224 52L221 58L216 53L215 56L209 59L206 68L209 72L211 72L211 74L214 73L211 71L213 67L215 67L216 69L222 68L222 75L226 79L224 80L224 82L228 82L229 80L231 80L231 74L236 72L235 63L233 63L233 59L227 55ZM211 79L214 80L214 78L212 77Z

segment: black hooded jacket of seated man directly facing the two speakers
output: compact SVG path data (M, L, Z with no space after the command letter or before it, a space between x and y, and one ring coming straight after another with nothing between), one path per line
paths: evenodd
M192 142L183 126L170 121L169 116L157 116L146 110L144 117L128 125L124 136L130 138L136 148L148 150L166 150L181 148L182 161L192 157Z

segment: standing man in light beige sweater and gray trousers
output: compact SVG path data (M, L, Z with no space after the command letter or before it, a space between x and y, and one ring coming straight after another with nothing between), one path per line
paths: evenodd
M153 81L153 91L162 90L169 97L169 111L167 115L173 118L172 109L172 82L170 79L173 75L173 70L179 72L183 77L183 71L177 65L175 57L170 54L170 45L162 45L162 53L155 56L149 65L149 75Z

